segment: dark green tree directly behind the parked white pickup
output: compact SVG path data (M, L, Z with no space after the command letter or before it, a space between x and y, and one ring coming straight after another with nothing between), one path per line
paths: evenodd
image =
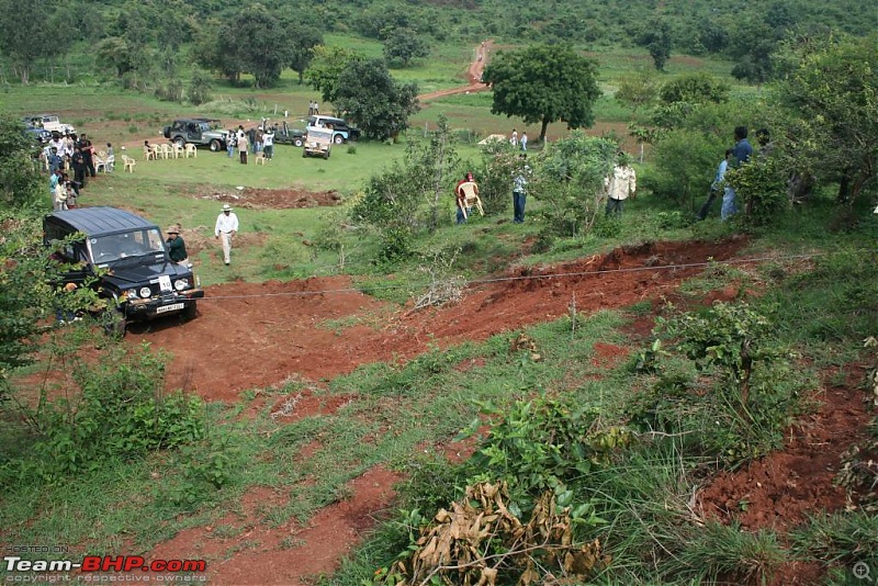
M385 139L408 127L408 116L419 108L417 93L417 84L394 81L383 60L353 60L338 77L333 103L363 135Z

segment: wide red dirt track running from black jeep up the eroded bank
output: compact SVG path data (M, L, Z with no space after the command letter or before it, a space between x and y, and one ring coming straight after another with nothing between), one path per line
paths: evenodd
M617 249L607 257L547 267L530 278L507 274L520 280L473 286L453 306L409 315L352 290L347 278L215 285L207 289L198 319L133 326L127 340L149 341L173 354L170 387L234 401L244 390L277 385L289 376L333 377L368 362L412 358L428 342L483 340L553 319L567 312L574 295L584 313L655 298L698 270L663 266L725 260L743 244L660 243ZM643 270L549 278L614 269ZM375 315L391 317L340 331L327 326L344 318L371 323Z

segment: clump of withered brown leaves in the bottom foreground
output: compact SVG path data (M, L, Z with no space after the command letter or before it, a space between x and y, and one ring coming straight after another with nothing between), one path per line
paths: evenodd
M570 508L560 508L547 491L537 500L527 523L507 503L505 482L479 483L465 496L440 509L420 531L417 548L397 561L386 584L494 586L509 578L517 584L579 584L593 571L609 564L600 543L575 543ZM502 553L492 553L502 552Z

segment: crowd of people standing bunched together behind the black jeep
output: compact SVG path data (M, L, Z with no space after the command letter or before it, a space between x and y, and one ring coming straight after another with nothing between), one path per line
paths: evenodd
M113 145L106 143L106 158L100 160L101 165L112 165L114 160ZM76 207L77 198L86 189L89 178L98 176L94 145L89 137L85 133L78 136L72 133L53 133L40 158L48 169L53 209L57 211ZM72 178L69 171L72 171Z

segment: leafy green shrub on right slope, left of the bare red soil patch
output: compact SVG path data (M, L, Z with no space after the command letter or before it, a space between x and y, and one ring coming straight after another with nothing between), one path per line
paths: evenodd
M657 318L676 337L676 349L701 379L694 379L653 345L635 370L657 373L649 392L628 407L630 424L642 430L680 433L687 453L716 457L736 465L776 448L801 408L809 381L770 343L775 327L747 304L717 302L702 313ZM758 369L757 365L761 365ZM671 368L668 368L671 367ZM707 379L707 384L703 377Z

